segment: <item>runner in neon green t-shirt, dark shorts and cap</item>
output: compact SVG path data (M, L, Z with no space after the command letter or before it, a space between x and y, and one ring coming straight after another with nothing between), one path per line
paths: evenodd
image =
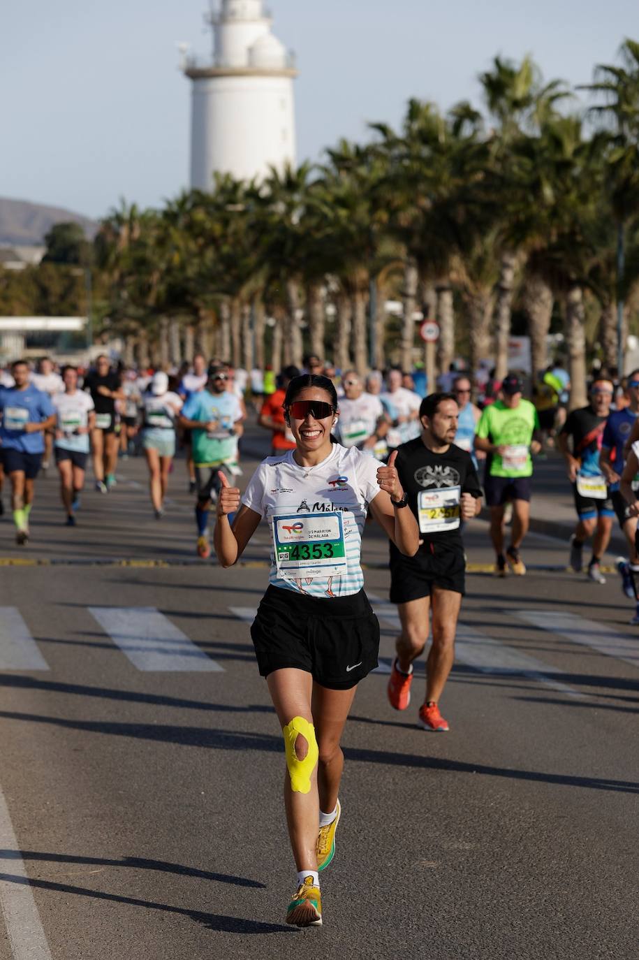
M519 555L531 516L532 453L541 449L539 419L523 383L509 373L501 385L501 398L485 407L477 424L475 449L486 456L484 490L490 508L490 539L496 554L495 572L505 577L507 563L517 576L526 573ZM504 551L504 512L512 503L510 544Z

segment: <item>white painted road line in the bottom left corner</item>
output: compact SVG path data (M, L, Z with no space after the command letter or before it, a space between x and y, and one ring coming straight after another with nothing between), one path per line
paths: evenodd
M13 960L51 960L34 893L15 837L9 809L0 790L0 847L12 852L0 865L0 906ZM11 877L9 879L8 877Z

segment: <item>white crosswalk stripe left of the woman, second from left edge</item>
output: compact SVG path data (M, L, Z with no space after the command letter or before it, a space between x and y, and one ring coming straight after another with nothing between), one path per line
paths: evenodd
M155 607L89 607L103 630L145 672L221 672L211 660Z

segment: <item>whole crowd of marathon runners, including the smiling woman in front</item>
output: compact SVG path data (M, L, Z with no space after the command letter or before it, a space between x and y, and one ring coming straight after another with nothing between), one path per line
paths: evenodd
M367 516L390 541L390 602L401 622L390 707L409 707L414 661L430 637L417 712L429 732L449 729L439 704L465 589L463 525L485 502L495 574L524 576L534 458L549 446L563 456L574 495L570 565L582 569L592 541L586 576L604 583L601 561L616 518L627 539L627 558L618 562L622 588L637 600L639 371L622 390L595 373L587 405L570 413L562 374L560 367L543 372L534 402L523 396L517 373L478 383L451 370L423 396L411 374L338 376L316 356L277 377L234 371L201 355L174 372L120 370L103 355L85 372L71 365L57 372L45 359L36 371L17 361L2 374L0 459L18 544L29 541L36 478L52 460L69 526L89 456L101 494L117 482L119 457L144 456L159 520L178 446L186 474L173 482L194 496L202 559L211 554L211 513L213 548L224 567L268 521L270 583L251 636L284 737L297 870L291 924L321 924L319 873L335 854L342 812L340 740L357 684L378 662L379 625L360 559ZM551 394L556 402L549 405ZM241 492L240 439L249 416L269 431L272 455Z

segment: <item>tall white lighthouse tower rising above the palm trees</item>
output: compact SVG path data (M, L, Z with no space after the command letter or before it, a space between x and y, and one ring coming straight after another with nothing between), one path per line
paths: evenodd
M262 0L222 0L208 17L213 60L186 60L193 82L191 186L214 173L261 179L296 160L294 58L272 35Z

